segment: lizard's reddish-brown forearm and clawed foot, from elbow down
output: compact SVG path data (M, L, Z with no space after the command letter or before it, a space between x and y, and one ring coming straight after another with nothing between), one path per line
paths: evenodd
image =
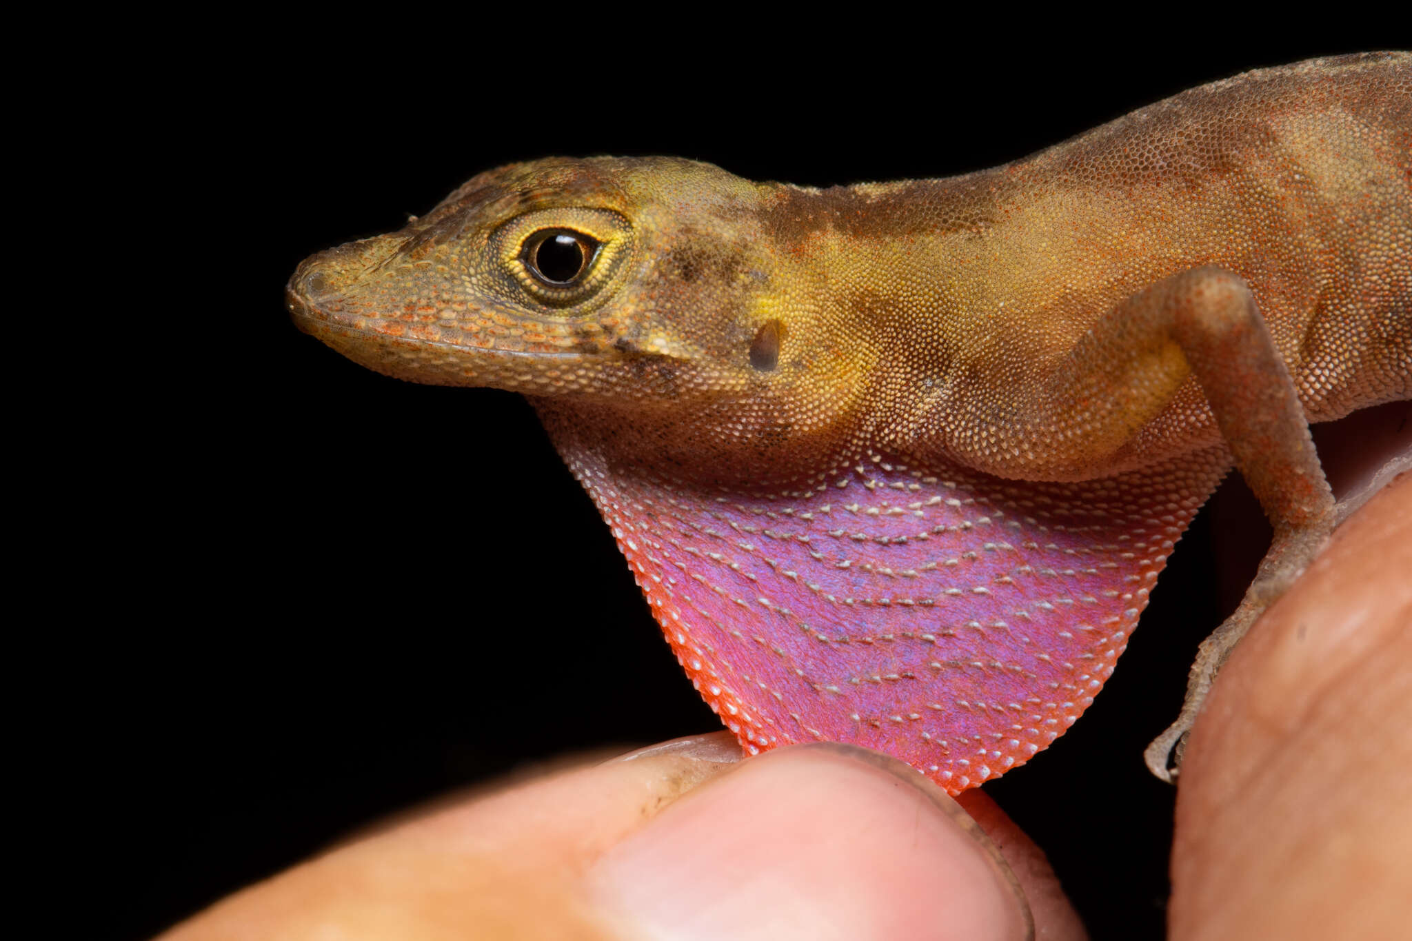
M1144 755L1148 769L1166 782L1176 777L1186 738L1221 664L1308 567L1334 525L1333 494L1299 395L1245 282L1202 268L1172 288L1173 339L1275 536L1236 612L1202 643L1176 722Z

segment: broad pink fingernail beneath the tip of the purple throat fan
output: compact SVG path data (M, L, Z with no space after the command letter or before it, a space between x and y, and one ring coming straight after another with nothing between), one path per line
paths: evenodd
M1031 937L974 821L901 762L784 748L698 787L610 849L590 892L623 937Z

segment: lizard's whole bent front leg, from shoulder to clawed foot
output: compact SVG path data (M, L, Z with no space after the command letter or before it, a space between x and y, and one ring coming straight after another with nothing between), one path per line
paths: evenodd
M1104 477L1195 374L1275 538L1237 611L1202 645L1178 721L1147 751L1172 780L1185 735L1226 657L1312 560L1333 528L1333 495L1279 351L1243 278L1196 268L1120 303L1028 394L977 399L953 416L945 449L1004 477ZM1209 419L1207 419L1209 420ZM925 427L931 422L921 422ZM925 432L923 432L925 436Z

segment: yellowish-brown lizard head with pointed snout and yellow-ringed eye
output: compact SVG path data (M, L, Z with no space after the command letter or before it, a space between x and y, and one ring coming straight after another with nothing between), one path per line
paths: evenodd
M839 425L870 365L836 334L826 253L772 220L805 192L675 158L515 164L308 258L287 302L397 378L778 444Z

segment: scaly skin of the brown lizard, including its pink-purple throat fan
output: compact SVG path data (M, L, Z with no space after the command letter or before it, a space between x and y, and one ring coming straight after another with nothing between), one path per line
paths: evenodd
M569 285L525 261L546 230L599 245ZM1264 327L1207 343L1251 296ZM747 749L857 742L956 793L1093 701L1233 444L1303 525L1327 487L1275 456L1308 451L1299 412L1412 396L1412 55L940 181L511 165L288 300L388 375L531 396ZM1293 425L1236 420L1247 388Z

